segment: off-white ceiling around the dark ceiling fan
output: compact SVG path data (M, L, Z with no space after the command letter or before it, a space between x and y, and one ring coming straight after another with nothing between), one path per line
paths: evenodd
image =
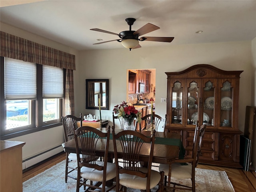
M123 48L117 41L93 45L118 36L90 28L118 34L129 30L129 17L136 18L135 31L147 23L160 27L143 36L174 37L171 43L140 42L142 48L256 37L256 0L0 0L0 6L2 23L78 50Z

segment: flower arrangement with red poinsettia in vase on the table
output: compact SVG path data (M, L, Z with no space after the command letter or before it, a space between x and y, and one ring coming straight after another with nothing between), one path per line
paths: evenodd
M114 106L114 113L117 114L118 118L136 118L136 122L141 122L141 112L135 109L134 106L128 106L126 102L122 102L122 104L118 104Z

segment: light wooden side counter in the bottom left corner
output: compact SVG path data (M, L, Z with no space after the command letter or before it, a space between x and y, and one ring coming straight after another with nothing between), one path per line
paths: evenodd
M0 191L22 192L22 147L25 142L0 141Z

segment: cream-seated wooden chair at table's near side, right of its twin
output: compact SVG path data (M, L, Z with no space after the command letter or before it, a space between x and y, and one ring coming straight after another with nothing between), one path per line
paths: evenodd
M116 192L126 192L127 188L146 190L158 186L162 190L161 180L164 172L151 170L155 135L151 137L144 136L140 132L132 130L123 130L117 134L112 127L112 136L114 142L114 156L116 164ZM122 152L122 164L118 164L117 152ZM148 156L148 168L142 168L139 164L140 154ZM156 191L158 191L156 190Z

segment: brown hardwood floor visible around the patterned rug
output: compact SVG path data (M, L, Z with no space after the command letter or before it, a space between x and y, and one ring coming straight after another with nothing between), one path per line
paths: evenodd
M65 160L65 158L65 153L60 154L52 160L24 172L23 182L56 165L62 160ZM199 164L197 168L225 171L234 187L235 192L256 192L256 172L254 171L244 171L242 169L210 166L205 164Z

